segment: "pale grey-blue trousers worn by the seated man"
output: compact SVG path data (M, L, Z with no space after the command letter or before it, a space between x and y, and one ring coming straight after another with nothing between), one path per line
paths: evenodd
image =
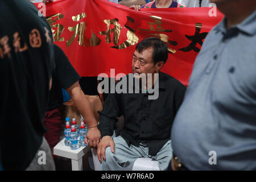
M110 150L110 147L106 148L105 156L106 161L102 160L100 170L103 171L131 171L133 164L138 158L151 158L158 161L158 166L161 171L166 170L171 158L172 158L172 147L171 140L168 140L166 144L159 150L155 155L148 155L148 147L144 146L133 146L130 147L126 143L125 139L121 136L113 137L115 144L114 154Z

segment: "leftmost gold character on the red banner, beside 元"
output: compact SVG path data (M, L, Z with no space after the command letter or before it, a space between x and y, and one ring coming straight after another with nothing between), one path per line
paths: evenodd
M55 18L55 20L53 20L53 18ZM60 13L46 17L46 20L47 20L49 26L52 29L52 35L53 35L54 41L60 41L61 42L61 41L65 40L63 37L60 37L60 35L64 31L64 26L62 24L59 24L59 23L53 24L53 23L56 23L57 20L59 20L61 18L64 18L64 15L60 14ZM55 30L53 30L53 28L57 28L57 30L55 31Z

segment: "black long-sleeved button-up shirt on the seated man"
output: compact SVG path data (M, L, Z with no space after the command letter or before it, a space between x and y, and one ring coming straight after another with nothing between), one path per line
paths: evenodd
M128 80L128 76L126 76ZM127 81L127 84L129 82ZM115 84L117 85L117 83ZM133 84L134 85L134 84ZM127 85L127 90L131 84ZM133 89L136 89L133 86ZM185 86L174 77L159 72L159 97L149 100L149 93L110 93L99 111L101 137L113 135L115 117L124 117L120 133L127 144L146 143L149 155L156 153L170 140L175 114L183 101Z

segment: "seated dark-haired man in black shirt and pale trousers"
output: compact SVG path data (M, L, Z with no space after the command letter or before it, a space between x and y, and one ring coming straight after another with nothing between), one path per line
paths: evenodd
M167 59L167 44L159 38L147 38L137 44L133 54L133 74L122 77L122 80L132 76L132 82L139 80L143 85L142 76L147 75L146 88L134 86L129 80L129 92L117 93L115 90L106 98L103 110L99 112L98 125L102 139L97 155L102 170L130 170L138 158L155 159L161 170L167 169L172 157L171 126L185 93L183 84L159 71ZM152 87L148 84L150 81L154 83ZM154 94L158 91L158 98L151 100L150 89L153 88ZM130 90L139 90L139 93ZM119 137L112 139L115 117L121 115L125 120L123 130Z

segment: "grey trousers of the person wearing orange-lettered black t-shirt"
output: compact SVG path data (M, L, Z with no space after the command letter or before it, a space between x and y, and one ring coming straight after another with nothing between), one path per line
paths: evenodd
M55 171L51 148L44 137L41 146L26 171Z

